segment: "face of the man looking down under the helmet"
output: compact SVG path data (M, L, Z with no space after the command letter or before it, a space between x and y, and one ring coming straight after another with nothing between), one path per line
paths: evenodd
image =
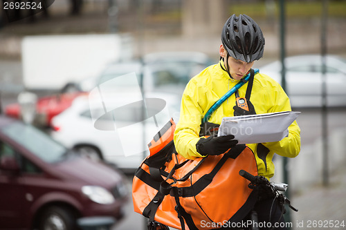
M220 50L219 50L220 56L224 57L226 59L227 57L227 51L224 48L224 46L221 44ZM240 80L246 73L248 73L248 70L253 67L252 62L245 62L238 59L235 59L234 57L228 57L228 71L230 72L230 75L233 77L233 79ZM226 66L226 65L225 65Z

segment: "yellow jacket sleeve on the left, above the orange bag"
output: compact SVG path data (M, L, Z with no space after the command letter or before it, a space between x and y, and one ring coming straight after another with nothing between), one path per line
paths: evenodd
M199 96L203 97L197 86L193 82L189 82L181 99L179 122L174 132L174 145L177 153L192 160L202 157L196 150L196 144L200 139L199 131L203 117L203 105L200 103L207 100L202 98L203 100L198 102Z

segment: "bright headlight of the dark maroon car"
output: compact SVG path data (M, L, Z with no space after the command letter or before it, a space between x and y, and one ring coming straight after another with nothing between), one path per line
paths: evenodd
M101 186L82 186L82 193L98 204L111 204L115 201L113 195Z

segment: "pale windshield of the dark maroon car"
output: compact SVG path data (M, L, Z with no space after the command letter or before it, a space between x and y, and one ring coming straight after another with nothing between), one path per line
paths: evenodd
M67 152L64 146L33 126L13 123L2 132L45 162L59 162Z

